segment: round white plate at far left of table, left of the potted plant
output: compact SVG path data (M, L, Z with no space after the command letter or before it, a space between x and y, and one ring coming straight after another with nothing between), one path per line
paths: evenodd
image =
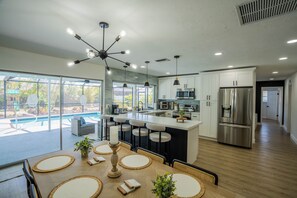
M57 155L38 162L33 170L36 172L50 172L66 168L74 162L74 157L69 155Z

